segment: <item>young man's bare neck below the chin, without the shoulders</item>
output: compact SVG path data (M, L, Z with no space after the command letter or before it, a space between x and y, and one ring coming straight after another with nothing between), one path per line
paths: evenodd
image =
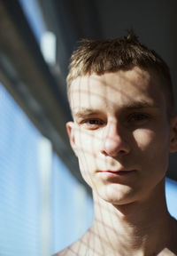
M173 219L166 209L164 187L140 202L123 205L93 196L95 220L89 243L102 252L99 255L157 255L171 246Z

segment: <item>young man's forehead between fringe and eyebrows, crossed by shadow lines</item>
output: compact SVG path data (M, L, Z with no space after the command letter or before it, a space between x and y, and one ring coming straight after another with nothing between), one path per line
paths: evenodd
M73 113L79 108L117 109L142 103L164 106L165 100L158 78L140 68L81 76L70 88Z

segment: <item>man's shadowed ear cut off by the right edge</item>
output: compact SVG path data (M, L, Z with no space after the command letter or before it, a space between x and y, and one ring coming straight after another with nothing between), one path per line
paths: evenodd
M171 117L170 152L177 151L177 115Z

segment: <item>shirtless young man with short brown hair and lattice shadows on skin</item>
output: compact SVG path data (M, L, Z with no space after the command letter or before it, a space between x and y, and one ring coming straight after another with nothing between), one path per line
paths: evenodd
M177 255L177 221L166 209L165 172L177 150L169 70L133 34L81 42L67 76L66 124L95 218L56 255Z

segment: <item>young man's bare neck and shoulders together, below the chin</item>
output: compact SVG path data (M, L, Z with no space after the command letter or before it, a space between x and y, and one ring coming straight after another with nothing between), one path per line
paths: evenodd
M95 205L93 226L80 240L56 256L177 255L177 221L168 214L165 205L161 209L151 205L153 212L147 204L116 207L96 201Z

